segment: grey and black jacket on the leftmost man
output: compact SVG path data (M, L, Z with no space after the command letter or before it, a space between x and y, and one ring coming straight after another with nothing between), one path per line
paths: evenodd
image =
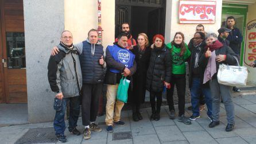
M48 80L56 94L63 92L64 98L80 95L82 72L77 48L57 46L60 52L51 56L48 63Z

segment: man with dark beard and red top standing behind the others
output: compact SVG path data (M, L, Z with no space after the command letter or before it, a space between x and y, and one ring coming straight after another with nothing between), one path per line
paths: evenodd
M137 45L136 41L134 40L133 36L131 36L130 33L130 26L127 22L122 24L122 33L126 33L127 34L127 46L126 49L133 49L133 46ZM115 38L115 42L118 41L118 38Z

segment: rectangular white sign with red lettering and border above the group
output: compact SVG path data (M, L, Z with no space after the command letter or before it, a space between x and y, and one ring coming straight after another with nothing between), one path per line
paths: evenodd
M180 1L180 24L214 24L216 1Z

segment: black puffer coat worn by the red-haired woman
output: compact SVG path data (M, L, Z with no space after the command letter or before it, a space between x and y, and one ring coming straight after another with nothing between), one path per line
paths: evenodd
M162 48L154 48L151 52L149 68L147 71L146 88L148 91L161 92L164 81L170 83L172 75L172 61L170 50L164 45Z

